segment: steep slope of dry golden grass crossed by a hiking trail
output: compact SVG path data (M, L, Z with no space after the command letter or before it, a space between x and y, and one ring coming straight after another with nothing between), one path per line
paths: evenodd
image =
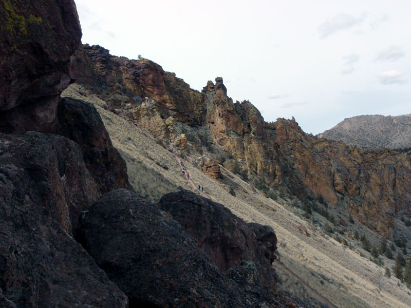
M130 183L148 200L156 201L178 186L198 192L180 173L173 153L156 144L156 139L140 127L103 108L105 102L77 84L70 85L63 95L94 104L101 114L110 138L127 161ZM193 154L184 158L186 169L195 185L248 222L258 222L274 228L278 238L281 262L310 287L338 307L409 307L411 296L398 279L387 278L384 268L359 256L334 239L317 230L308 221L290 210L286 200L275 202L250 184L221 166L222 174L238 184L236 197L228 186L204 174L198 166L201 158ZM310 236L304 236L296 226L303 225ZM279 271L286 283L292 278ZM288 288L291 288L289 283ZM381 284L381 292L379 285ZM297 286L298 289L298 286Z

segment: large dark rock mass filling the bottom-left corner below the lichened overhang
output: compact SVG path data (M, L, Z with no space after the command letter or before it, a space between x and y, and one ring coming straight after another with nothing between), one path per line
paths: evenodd
M127 306L69 236L72 222L98 196L76 143L52 134L0 133L1 306Z

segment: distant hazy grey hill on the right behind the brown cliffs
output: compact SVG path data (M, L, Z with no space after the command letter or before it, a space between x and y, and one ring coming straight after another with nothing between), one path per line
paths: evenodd
M411 147L411 114L358 115L347 118L317 137L371 149Z

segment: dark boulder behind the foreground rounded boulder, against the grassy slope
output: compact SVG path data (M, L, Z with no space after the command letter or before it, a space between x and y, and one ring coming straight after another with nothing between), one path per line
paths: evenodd
M261 281L276 292L275 259L277 238L269 226L247 224L222 204L182 190L164 195L159 202L195 239L222 272L254 261Z

